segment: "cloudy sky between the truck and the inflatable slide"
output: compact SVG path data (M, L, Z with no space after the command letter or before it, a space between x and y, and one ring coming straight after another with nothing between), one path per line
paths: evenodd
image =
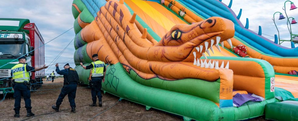
M45 43L73 27L75 19L71 12L72 1L40 1L40 0L2 0L0 4L1 18L27 18L36 24ZM73 29L45 45L45 64L52 60L75 37ZM73 42L67 47L56 63L64 63L73 58L75 48ZM69 61L74 63L73 60ZM63 64L64 65L64 64ZM74 64L70 64L75 67ZM51 67L53 68L54 65ZM61 67L63 68L63 67ZM48 71L50 72L50 71Z

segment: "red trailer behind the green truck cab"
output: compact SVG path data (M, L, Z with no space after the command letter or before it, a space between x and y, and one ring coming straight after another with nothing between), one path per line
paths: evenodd
M38 31L36 25L34 23L28 23L23 28L25 30L29 30L29 39L30 46L34 48L38 48L44 44L43 38ZM34 51L34 56L31 57L31 66L32 67L43 67L44 65L44 46L36 49ZM31 79L42 79L44 78L45 69L33 72L31 74Z

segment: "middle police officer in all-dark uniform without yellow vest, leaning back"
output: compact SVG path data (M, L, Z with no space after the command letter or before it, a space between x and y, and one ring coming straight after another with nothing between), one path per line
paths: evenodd
M52 106L55 111L59 111L59 107L66 95L68 95L68 101L71 106L71 113L75 113L75 94L77 91L77 84L79 80L78 73L75 69L71 68L69 64L64 65L64 70L59 70L59 65L56 64L57 74L63 75L64 86L61 89L61 93L58 96L56 106Z

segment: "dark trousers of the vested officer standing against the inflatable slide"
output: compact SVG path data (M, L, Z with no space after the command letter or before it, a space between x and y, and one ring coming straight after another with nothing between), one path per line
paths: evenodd
M95 104L96 103L96 96L98 98L98 101L102 101L102 95L101 95L101 82L102 82L102 77L92 77L91 79L91 96L92 96L92 101Z

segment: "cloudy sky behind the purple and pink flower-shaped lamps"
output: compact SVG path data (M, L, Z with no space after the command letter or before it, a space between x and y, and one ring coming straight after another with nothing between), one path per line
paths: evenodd
M226 5L229 5L230 0L223 0ZM285 11L282 9L285 1L281 0L234 0L231 9L238 15L242 8L240 21L245 26L246 18L249 20L249 29L258 31L259 26L262 26L263 36L274 41L274 34L278 34L274 22L272 21L273 14L277 11L281 12L285 17ZM295 2L295 1L294 1ZM288 17L298 18L298 9L289 10L290 2L286 3L286 12ZM281 39L289 40L290 34L286 25L286 19L278 20L279 14L275 14L275 23L279 29ZM291 22L292 19L290 19ZM291 25L292 33L298 34L298 24ZM270 36L267 36L267 35ZM273 36L273 37L271 37ZM282 46L291 47L289 42L282 43ZM296 47L298 45L296 44Z

